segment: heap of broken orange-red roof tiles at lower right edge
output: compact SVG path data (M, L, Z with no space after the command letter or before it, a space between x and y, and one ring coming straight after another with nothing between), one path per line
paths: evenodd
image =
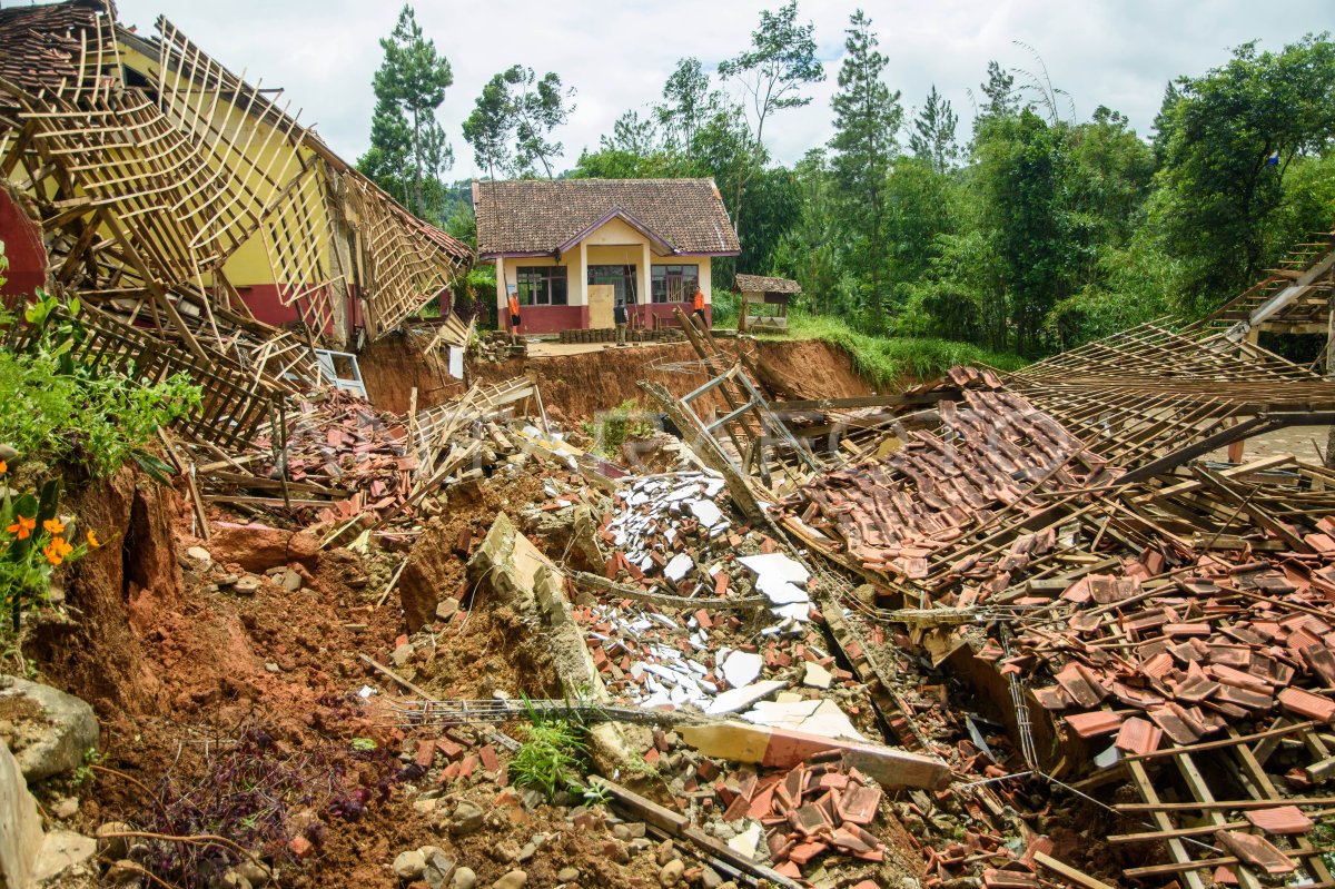
M1335 626L1318 617L1335 597L1322 578L1330 567L1320 557L1211 557L1148 598L1139 577L1088 575L1059 597L1077 606L1065 630L1027 627L1015 657L1001 659L995 642L983 655L1003 670L1051 673L1039 703L1079 710L1064 715L1072 731L1107 735L1123 753L1196 744L1279 713L1335 723Z

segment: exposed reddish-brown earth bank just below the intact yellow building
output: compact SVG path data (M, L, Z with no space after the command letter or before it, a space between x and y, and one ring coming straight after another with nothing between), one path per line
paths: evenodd
M736 351L738 340L720 339ZM804 398L866 395L870 387L853 370L842 350L813 339L764 340L746 344ZM390 338L370 347L360 358L362 376L371 400L383 410L407 411L410 391L418 390L418 407L430 407L458 396L465 386L441 368L433 356L423 362L413 342ZM542 390L542 402L553 416L591 419L622 402L645 403L641 379L662 383L674 395L685 395L709 376L700 368L689 343L642 344L605 348L579 355L517 358L469 367L469 379L498 383L531 374Z

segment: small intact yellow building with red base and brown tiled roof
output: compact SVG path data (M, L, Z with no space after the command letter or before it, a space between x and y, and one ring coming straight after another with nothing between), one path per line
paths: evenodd
M513 290L525 334L611 327L618 307L653 328L697 290L709 318L712 262L741 252L712 179L474 182L473 206L497 318Z

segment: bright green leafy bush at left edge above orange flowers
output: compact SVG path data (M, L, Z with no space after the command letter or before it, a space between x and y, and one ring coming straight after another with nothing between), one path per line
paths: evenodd
M63 311L57 311L63 308ZM36 330L21 354L0 350L0 443L48 463L64 463L92 478L135 461L163 477L166 465L143 446L156 430L188 415L200 390L184 374L144 384L77 358L85 332L79 302L64 307L39 292L24 311ZM0 312L0 338L16 320Z

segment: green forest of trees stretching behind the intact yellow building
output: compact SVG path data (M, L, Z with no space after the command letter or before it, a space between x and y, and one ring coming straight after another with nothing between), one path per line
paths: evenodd
M874 23L856 11L830 107L834 135L792 167L765 141L825 76L813 25L789 3L709 69L681 59L574 166L554 132L575 109L557 72L514 65L478 96L462 136L505 176L712 176L744 247L716 266L796 278L802 308L878 336L932 336L1028 358L1161 315L1202 315L1291 243L1335 228L1335 44L1236 47L1167 84L1153 131L1116 109L1076 120L1032 52L980 64L972 132L933 88L920 111L885 81ZM382 40L372 148L362 168L414 212L473 235L467 183L434 117L453 77L405 7ZM474 274L483 287L487 270ZM485 291L483 291L485 292Z

